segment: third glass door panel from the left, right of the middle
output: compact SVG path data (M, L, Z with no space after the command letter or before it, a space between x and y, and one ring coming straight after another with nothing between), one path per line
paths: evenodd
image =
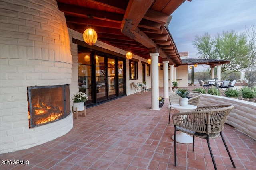
M108 58L108 96L116 94L115 60Z

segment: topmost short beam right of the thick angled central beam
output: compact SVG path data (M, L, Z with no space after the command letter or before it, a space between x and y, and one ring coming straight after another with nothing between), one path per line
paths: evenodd
M169 16L166 14L149 9L145 14L144 19L165 24L168 20L168 17Z

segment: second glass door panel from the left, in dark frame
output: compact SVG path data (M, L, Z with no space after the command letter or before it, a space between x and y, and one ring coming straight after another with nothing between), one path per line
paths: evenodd
M106 98L106 64L105 57L99 56L98 63L96 63L96 96L99 98ZM97 61L96 60L96 61Z

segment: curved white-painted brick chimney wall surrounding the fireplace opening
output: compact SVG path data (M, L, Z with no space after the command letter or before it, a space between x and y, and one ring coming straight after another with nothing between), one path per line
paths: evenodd
M68 28L55 0L0 0L0 153L40 145L73 127L65 119L28 127L28 86L71 83Z

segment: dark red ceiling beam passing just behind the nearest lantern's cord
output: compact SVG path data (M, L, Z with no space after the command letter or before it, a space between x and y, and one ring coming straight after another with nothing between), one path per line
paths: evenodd
M66 16L66 22L75 23L75 24L78 24L78 25L87 25L87 26L89 26L89 19L88 18ZM98 26L98 27L107 27L107 28L120 28L120 26L121 26L120 23L98 20L98 19L90 19L90 25Z

